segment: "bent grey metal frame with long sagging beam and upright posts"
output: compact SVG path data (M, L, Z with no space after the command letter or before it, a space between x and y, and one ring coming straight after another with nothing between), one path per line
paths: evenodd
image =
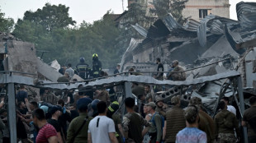
M54 90L71 90L76 89L78 85L83 85L84 88L92 88L92 87L102 87L106 85L116 86L122 85L123 87L123 100L126 97L132 97L131 93L131 82L137 82L148 85L173 85L173 86L187 86L187 85L198 85L210 81L218 81L221 79L229 79L230 83L228 85L224 85L220 90L220 95L225 93L225 89L229 88L231 85L232 91L239 95L239 111L240 114L244 114L244 95L243 95L243 86L241 76L238 71L228 71L225 73L220 73L214 76L203 76L197 79L193 79L192 81L158 81L150 76L112 76L107 79L101 79L91 82L77 82L77 83L51 83L50 81L35 81L31 77L27 76L17 76L14 74L2 74L0 75L0 83L7 85L7 96L8 96L8 121L10 127L10 138L12 143L17 143L17 124L16 124L16 107L15 107L15 84L24 84L30 85L37 88L50 88ZM183 90L181 88L180 90ZM219 97L220 100L221 97ZM238 102L238 99L236 99ZM124 104L121 104L122 114L125 113ZM247 136L246 128L244 127L244 136ZM247 137L244 137L244 142L247 142Z

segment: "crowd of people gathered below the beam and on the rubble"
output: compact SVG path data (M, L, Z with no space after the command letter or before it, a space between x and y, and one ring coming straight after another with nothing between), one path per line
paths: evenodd
M164 80L164 66L159 58L156 62L158 73L154 77ZM68 66L63 73L70 77L73 69ZM166 78L183 81L186 75L177 72L183 71L178 61L173 61L171 67ZM114 72L119 73L119 69L117 66ZM59 80L65 82L64 78ZM65 91L40 89L40 96L35 99L29 98L25 85L17 87L17 139L22 143L233 143L243 137L241 126L248 127L249 143L256 139L256 96L250 97L251 107L245 110L239 123L238 108L230 105L228 97L220 99L220 109L211 118L200 98L192 97L186 108L182 108L179 95L167 104L155 94L163 88L155 85L132 83L132 95L126 95L125 99L116 98L118 86L91 90L82 85ZM0 103L0 143L10 142L12 130L8 127L4 101L2 98Z

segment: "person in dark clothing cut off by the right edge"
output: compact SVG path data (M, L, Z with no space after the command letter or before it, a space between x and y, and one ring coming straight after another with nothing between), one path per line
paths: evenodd
M242 119L242 126L248 127L248 142L253 143L256 141L256 96L253 95L249 98L250 108L244 111Z

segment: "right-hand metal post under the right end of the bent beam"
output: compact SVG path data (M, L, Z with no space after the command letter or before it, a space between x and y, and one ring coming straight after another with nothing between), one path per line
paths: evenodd
M244 115L244 94L241 76L238 77L238 94L239 94L239 106L241 113ZM243 118L243 117L242 117ZM247 127L243 127L244 142L248 142Z

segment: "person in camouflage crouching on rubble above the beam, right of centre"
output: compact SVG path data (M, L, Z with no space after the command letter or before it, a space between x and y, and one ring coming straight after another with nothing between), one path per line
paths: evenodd
M185 81L186 73L183 70L183 67L178 66L178 60L174 60L171 65L171 70L167 75L168 80L172 81Z

